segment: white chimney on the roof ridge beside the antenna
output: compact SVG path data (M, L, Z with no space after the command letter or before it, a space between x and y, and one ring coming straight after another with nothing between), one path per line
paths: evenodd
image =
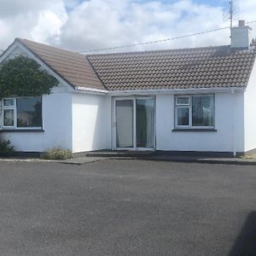
M252 28L245 26L245 20L239 20L238 26L231 28L231 48L250 48Z

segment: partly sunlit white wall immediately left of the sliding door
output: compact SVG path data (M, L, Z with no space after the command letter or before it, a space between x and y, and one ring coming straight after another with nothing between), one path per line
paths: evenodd
M73 93L73 153L111 148L111 98Z

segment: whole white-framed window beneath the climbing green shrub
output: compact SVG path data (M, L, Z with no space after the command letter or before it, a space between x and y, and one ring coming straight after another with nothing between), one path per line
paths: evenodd
M42 98L3 99L4 128L42 128Z

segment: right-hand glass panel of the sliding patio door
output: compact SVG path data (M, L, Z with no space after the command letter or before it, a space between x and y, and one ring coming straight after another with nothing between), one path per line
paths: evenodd
M154 148L154 99L136 100L137 148Z

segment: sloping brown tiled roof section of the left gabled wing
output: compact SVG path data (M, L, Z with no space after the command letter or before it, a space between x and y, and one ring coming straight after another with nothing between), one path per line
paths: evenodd
M41 61L44 61L73 87L106 90L84 55L26 39L17 38L16 40L25 45L27 49L31 50L34 55L37 55Z

